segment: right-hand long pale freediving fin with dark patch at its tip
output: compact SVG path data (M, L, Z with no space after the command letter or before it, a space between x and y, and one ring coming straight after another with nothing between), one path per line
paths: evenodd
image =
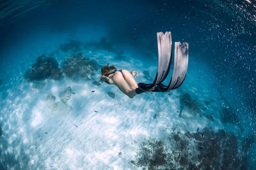
M160 83L157 86L158 92L170 92L177 89L183 83L188 71L188 43L175 42L174 64L172 78L168 86Z

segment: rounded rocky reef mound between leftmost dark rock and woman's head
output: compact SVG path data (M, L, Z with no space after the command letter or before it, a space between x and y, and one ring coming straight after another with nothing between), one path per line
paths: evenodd
M97 62L92 59L85 59L83 53L70 55L65 59L62 66L63 73L72 80L90 80L98 69Z

